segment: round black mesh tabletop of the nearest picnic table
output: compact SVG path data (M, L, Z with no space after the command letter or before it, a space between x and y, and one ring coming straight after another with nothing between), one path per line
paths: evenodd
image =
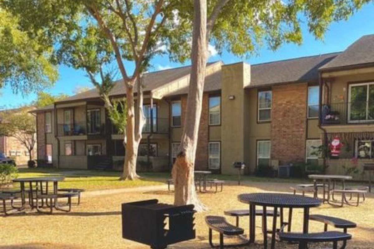
M238 200L252 205L285 208L311 208L321 205L321 202L318 199L312 197L279 193L239 194Z

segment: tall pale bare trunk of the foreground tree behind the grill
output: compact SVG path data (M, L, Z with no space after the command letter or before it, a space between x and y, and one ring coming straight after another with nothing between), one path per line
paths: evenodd
M181 144L173 165L172 175L175 186L174 204L193 204L197 211L206 209L197 198L194 184L194 163L207 60L206 50L206 0L194 0L190 87Z

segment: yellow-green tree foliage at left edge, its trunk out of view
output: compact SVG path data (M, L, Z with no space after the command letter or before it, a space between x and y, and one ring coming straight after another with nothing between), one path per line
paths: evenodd
M18 19L0 7L0 88L28 94L52 85L58 77L50 60L50 46L31 37Z

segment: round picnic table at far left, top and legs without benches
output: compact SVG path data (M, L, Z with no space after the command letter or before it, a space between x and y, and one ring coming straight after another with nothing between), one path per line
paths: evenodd
M40 192L42 194L48 193L48 183L53 183L53 194L57 194L58 191L58 182L63 181L65 177L27 177L27 178L16 178L13 179L13 182L19 182L21 186L21 202L22 206L21 209L25 208L26 198L25 198L25 183L29 183L30 190L29 190L29 201L31 209L36 208L36 205L34 205L34 190L38 190L37 184L40 184ZM33 186L33 183L35 183L35 186ZM46 183L45 191L43 190L42 184ZM36 189L33 189L36 187ZM51 203L52 205L52 203Z

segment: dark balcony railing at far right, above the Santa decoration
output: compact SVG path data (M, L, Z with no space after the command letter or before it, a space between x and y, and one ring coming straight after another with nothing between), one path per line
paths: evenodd
M374 122L374 102L341 102L322 105L322 124L357 124Z

